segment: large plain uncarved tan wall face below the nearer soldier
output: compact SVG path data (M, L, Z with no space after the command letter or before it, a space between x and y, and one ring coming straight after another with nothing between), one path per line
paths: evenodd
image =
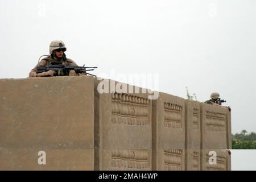
M94 169L93 91L91 77L0 80L0 169Z

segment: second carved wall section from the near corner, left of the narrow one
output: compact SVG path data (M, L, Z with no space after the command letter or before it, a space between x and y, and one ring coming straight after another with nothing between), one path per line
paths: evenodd
M153 169L184 170L184 99L159 93L158 100L152 102Z

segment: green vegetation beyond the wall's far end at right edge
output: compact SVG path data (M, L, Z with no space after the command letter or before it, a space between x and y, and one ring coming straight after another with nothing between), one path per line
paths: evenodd
M232 134L232 149L256 149L256 133L246 130Z

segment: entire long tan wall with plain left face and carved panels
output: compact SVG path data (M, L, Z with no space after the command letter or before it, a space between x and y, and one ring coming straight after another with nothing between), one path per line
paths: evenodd
M100 83L87 76L0 80L0 170L230 169L225 107L166 93L149 100L146 90L116 81L99 93ZM212 150L220 151L219 166L207 164ZM46 165L38 164L39 151Z

